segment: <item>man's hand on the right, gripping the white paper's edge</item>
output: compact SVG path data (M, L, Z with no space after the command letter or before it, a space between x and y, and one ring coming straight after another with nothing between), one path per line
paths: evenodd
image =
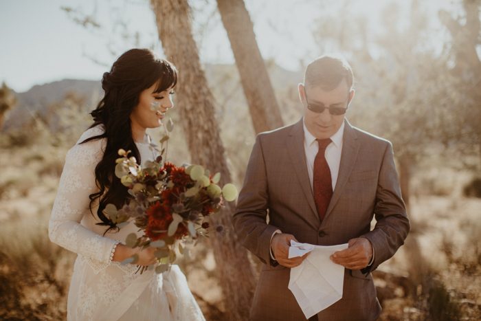
M372 245L368 239L358 237L350 239L346 250L334 252L331 260L346 269L363 269L372 258Z

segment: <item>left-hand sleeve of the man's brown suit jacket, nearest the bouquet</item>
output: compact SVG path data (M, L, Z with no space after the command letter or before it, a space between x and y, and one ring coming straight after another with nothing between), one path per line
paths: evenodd
M269 186L260 137L260 135L256 137L256 143L249 158L233 220L238 239L243 246L258 256L263 263L276 265L271 260L270 244L271 236L278 228L267 224L266 221Z

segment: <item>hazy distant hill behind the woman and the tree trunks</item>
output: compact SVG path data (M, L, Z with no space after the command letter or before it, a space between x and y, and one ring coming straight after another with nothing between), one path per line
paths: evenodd
M302 81L301 72L288 71L278 65L268 65L271 82L275 90L295 86ZM205 74L214 90L214 94L223 95L222 90L215 87L221 84L223 88L234 88L236 100L242 100L242 87L240 86L235 65L205 65ZM96 107L103 91L100 81L65 79L49 82L44 85L35 85L28 91L16 93L18 103L5 118L1 131L8 131L29 122L33 115L44 114L51 104L60 102L67 93L74 92L87 101L89 110Z

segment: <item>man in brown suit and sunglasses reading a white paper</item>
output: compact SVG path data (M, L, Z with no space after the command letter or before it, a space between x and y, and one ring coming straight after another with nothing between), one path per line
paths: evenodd
M331 257L345 267L342 299L310 320L375 320L381 306L370 272L410 230L392 145L344 118L354 97L345 60L310 63L299 96L299 122L257 136L234 214L238 238L265 263L251 320L306 320L287 288L290 268L305 258L288 258L291 240L349 244Z

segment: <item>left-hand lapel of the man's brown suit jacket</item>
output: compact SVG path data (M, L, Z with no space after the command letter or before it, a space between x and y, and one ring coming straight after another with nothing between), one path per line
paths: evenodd
M320 225L320 219L317 215L317 209L315 207L314 196L311 190L311 183L309 180L309 174L307 173L306 164L306 152L304 151L304 129L302 119L293 126L291 133L286 141L287 151L291 161L293 163L293 168L295 170L295 175L299 179L299 183L302 187L302 192L309 203L311 208L311 213L309 213L309 221L312 223L313 227L318 228Z

